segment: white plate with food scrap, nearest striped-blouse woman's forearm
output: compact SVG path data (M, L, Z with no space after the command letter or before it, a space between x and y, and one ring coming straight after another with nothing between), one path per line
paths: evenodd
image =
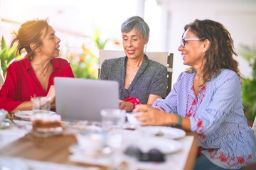
M139 132L143 132L153 136L168 137L171 139L179 139L186 135L184 130L165 126L143 126L138 128Z

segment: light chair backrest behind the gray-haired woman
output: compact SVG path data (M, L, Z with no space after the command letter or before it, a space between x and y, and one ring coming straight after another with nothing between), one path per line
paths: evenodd
M167 67L167 91L166 95L169 94L171 91L171 79L172 79L172 73L173 73L173 60L174 60L174 54L168 53L168 52L146 52L146 55L149 57L150 60L154 60L156 62L159 62ZM110 58L118 58L118 57L124 57L125 53L124 51L120 50L100 50L100 56L99 56L99 74L102 62L106 59Z

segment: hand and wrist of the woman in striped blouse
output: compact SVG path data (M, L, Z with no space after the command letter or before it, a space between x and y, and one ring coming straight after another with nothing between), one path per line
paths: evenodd
M137 120L141 121L140 125L173 125L175 115L159 111L149 105L137 105L134 110Z

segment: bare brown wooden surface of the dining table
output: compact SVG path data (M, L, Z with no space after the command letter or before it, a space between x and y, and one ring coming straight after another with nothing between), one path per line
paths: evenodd
M185 169L193 169L196 161L198 136L194 132L186 132L186 135L193 135L194 140L191 150L188 154ZM55 137L35 137L28 134L15 142L7 145L0 150L0 155L10 157L22 157L25 159L33 159L42 162L55 162L59 164L72 164L76 166L92 166L90 164L82 164L70 162L69 147L76 141L73 135L55 136ZM93 165L95 166L95 165ZM97 166L100 169L107 169L105 166Z

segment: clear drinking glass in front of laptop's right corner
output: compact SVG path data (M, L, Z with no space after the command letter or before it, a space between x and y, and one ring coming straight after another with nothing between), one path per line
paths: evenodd
M103 109L100 111L102 115L102 130L109 132L112 128L122 128L125 122L125 110L121 109Z

